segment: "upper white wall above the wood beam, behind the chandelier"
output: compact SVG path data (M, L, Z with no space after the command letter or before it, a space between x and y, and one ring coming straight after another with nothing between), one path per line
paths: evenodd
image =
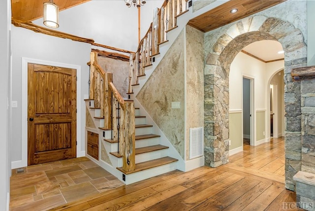
M163 0L147 0L141 6L140 39L153 21L153 9L159 8L162 3ZM43 18L33 23L46 27ZM91 0L60 11L59 25L54 30L92 38L96 43L130 51L136 51L138 47L138 9L133 5L128 8L124 0Z

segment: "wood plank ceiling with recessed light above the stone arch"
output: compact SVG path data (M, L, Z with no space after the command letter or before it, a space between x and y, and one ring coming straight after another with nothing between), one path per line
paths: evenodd
M191 19L188 25L201 32L209 32L284 1L285 0L230 0ZM238 11L236 13L230 13L230 10L234 8L237 8Z

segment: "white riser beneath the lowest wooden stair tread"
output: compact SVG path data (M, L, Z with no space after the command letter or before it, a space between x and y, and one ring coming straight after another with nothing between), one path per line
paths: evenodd
M130 175L126 175L126 184L131 184L143 179L151 178L153 176L158 176L167 172L171 172L177 169L177 162L165 164L152 169L147 169L144 171L136 172ZM118 178L123 181L123 173ZM124 182L124 181L123 181Z

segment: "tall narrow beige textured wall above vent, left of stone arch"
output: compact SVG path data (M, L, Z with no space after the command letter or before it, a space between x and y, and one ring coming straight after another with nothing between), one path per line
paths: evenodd
M204 126L203 118L203 69L204 33L186 27L186 137L190 128ZM186 141L186 160L189 159L189 141Z

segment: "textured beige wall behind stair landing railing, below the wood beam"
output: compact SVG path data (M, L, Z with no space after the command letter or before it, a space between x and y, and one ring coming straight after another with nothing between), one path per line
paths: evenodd
M112 72L113 84L117 88L119 94L123 98L127 98L128 92L128 77L129 77L129 61L112 59L103 56L97 57L98 64L105 72Z

